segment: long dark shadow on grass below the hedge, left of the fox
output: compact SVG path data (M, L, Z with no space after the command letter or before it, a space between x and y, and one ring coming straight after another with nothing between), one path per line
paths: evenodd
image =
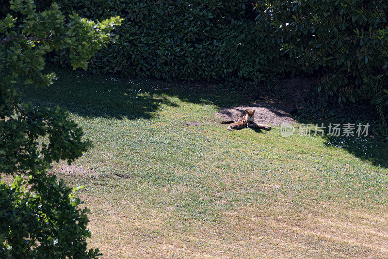
M82 117L116 119L149 119L161 105L178 106L169 97L178 97L191 103L217 100L216 105L220 106L239 103L222 89L199 87L200 85L194 83L132 81L65 69L55 69L55 72L58 80L47 88L36 89L31 85L20 85L22 100L31 101L36 106L58 105Z

